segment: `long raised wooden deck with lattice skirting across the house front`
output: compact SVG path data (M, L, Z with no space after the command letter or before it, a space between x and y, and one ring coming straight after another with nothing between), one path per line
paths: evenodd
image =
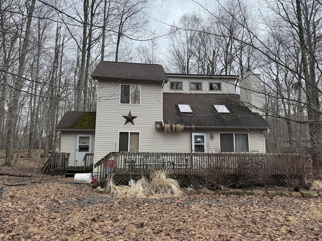
M287 186L291 179L297 182L313 175L311 163L298 154L144 152L109 153L95 164L94 175L104 180L113 174L117 184L128 184L129 179L149 178L156 170L166 170L184 186L198 182L238 186L251 181Z

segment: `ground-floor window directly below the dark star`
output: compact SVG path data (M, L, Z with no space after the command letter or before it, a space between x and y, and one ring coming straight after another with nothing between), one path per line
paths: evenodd
M138 152L139 151L139 133L138 132L120 132L119 152Z

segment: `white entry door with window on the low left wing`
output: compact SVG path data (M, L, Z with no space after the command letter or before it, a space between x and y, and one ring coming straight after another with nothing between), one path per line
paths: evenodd
M87 153L92 153L92 134L77 134L75 166L84 166L84 157Z

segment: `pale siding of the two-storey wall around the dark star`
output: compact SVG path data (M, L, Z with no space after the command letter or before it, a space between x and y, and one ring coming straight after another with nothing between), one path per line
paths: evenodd
M131 84L123 82L122 84ZM162 121L162 85L141 84L140 104L121 104L120 83L99 82L96 114L95 161L118 151L119 132L139 132L141 152L157 152L155 122ZM134 125L123 115L131 111Z

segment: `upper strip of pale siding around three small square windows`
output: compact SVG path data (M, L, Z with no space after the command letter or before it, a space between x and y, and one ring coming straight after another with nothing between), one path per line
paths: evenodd
M170 89L171 82L182 82L182 90ZM190 82L201 83L202 90L190 90ZM221 83L221 91L209 90L209 83ZM226 79L170 78L169 81L164 85L163 91L165 93L191 92L191 93L234 94L235 86L234 86L233 80L226 80Z

